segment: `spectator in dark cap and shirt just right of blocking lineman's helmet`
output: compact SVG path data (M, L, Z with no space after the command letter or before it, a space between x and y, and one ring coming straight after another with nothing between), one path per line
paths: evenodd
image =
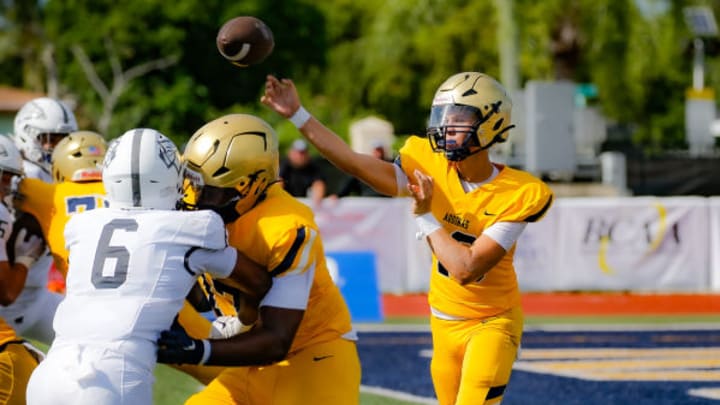
M320 167L312 161L308 145L302 139L293 142L287 159L280 163L283 187L295 197L309 197L318 207L325 197L326 184Z

